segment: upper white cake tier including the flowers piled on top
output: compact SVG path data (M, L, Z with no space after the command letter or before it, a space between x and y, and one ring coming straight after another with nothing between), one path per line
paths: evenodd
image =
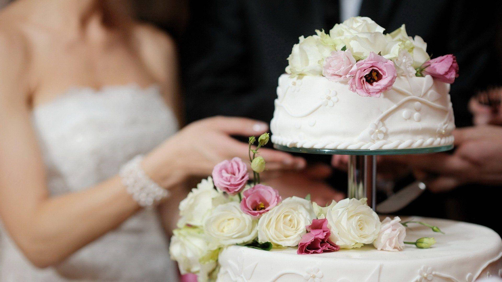
M351 18L300 37L279 78L274 144L315 149L410 149L453 144L455 57L429 59L404 25L384 34Z

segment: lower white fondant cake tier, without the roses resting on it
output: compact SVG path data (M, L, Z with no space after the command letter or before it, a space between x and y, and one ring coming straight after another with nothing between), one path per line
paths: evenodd
M410 220L411 218L403 218ZM217 282L458 282L502 276L502 241L493 230L465 222L413 217L438 226L407 228L405 241L435 237L429 249L402 251L373 246L299 255L296 248L264 251L230 246L219 255Z

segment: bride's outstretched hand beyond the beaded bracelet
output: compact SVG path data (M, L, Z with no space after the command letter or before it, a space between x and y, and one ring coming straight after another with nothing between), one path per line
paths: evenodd
M213 167L223 160L233 157L248 160L248 144L232 135L258 137L268 128L262 121L242 117L216 116L195 121L149 154L143 166L161 185L171 182L173 176L179 179L210 175ZM267 160L267 170L303 169L306 165L303 158L272 149L262 148L260 155ZM175 172L165 175L169 167Z

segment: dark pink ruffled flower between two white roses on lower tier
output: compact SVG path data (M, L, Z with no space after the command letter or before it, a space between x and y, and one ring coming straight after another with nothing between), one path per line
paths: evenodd
M312 224L307 226L307 231L308 233L302 236L296 253L311 254L340 249L340 246L329 239L331 231L327 219L313 219Z

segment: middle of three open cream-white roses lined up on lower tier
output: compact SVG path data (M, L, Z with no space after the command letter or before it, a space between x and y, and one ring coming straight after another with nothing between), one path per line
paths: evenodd
M291 197L270 210L258 222L258 240L280 246L298 245L307 233L306 227L315 218L312 203Z

